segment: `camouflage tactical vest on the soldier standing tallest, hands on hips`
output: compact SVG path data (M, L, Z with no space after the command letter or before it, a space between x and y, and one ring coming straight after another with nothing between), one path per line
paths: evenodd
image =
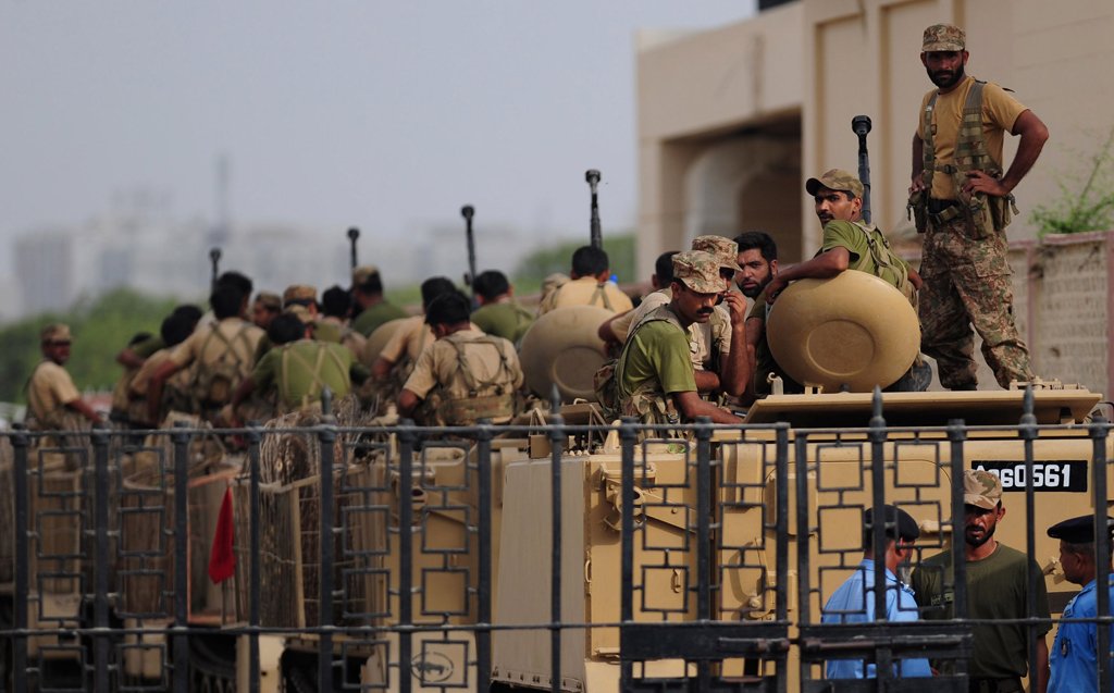
M985 81L974 79L974 84L967 92L962 119L956 135L956 150L950 164L940 166L936 164L936 125L932 123L932 113L936 109L936 98L939 96L939 91L934 91L928 104L925 105L922 128L925 130L922 164L927 191L925 197L927 198L932 191L934 175L936 172L940 172L951 176L956 199L959 203L938 214L927 214L927 217L934 227L939 227L960 214L966 215L968 227L975 238L986 238L996 232L1005 231L1013 219L1010 212L1018 213L1013 194L997 197L984 193L968 195L962 192L968 172L981 170L995 178L1000 177L1003 173L1001 164L995 162L994 157L987 153L986 140L983 138L983 87L985 85ZM920 223L918 223L918 231L922 231Z

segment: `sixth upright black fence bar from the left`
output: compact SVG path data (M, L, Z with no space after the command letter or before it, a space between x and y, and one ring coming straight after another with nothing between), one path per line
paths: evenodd
M410 693L413 660L413 421L399 427L399 691Z

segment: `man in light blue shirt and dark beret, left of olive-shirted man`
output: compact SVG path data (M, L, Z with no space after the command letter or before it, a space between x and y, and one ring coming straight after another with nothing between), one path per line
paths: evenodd
M912 545L920 536L920 528L911 515L896 506L882 506L886 516L886 619L908 623L918 619L917 602L912 589L898 580L897 569L912 556ZM851 577L832 594L824 604L821 623L871 623L878 618L874 613L874 509L863 513L862 560ZM862 660L829 660L829 679L874 679L878 675L873 664L863 671ZM900 677L931 676L928 660L910 658L893 665L893 675Z

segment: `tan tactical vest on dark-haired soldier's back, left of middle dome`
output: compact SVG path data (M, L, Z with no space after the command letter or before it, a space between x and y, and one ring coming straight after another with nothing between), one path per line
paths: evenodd
M449 343L457 354L457 373L463 379L467 392L461 396L450 388L439 384L433 388L422 402L422 411L427 422L436 426L472 426L480 419L509 419L516 413L515 372L507 361L500 341L497 338L459 340L450 334L442 341ZM465 358L465 351L471 345L483 345L495 349L499 355L499 368L487 380L480 380L472 372Z

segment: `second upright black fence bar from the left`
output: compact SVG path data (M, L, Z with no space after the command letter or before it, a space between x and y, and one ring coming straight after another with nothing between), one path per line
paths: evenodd
M97 691L109 691L108 655L108 432L94 426L90 433L94 460L94 536L96 554L92 558L94 595L94 687Z

